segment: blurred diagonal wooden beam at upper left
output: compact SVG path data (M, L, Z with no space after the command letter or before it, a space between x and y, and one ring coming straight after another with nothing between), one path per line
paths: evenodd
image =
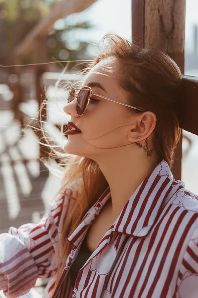
M14 55L16 57L25 55L32 50L36 38L47 36L50 33L55 21L72 13L82 12L96 1L97 0L62 0L57 2L51 13L43 18L16 47Z

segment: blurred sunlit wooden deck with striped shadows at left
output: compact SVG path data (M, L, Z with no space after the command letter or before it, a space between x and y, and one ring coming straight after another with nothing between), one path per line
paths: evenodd
M36 160L38 152L32 131L21 136L12 113L0 111L0 233L10 226L38 223L60 188L61 179ZM23 158L29 161L24 164ZM38 279L35 289L42 294L47 282Z

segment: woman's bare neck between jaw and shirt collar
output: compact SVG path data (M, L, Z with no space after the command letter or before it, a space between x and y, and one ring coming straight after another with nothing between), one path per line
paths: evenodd
M127 158L126 154L112 154L111 158L98 163L109 184L111 200L108 204L111 214L116 217L140 183L161 161L154 153L148 158L144 151L139 150L138 155Z

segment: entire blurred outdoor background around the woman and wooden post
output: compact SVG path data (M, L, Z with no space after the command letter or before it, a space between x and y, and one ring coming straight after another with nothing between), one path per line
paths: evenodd
M0 0L0 232L37 223L60 187L61 173L49 173L39 162L48 153L38 143L41 135L26 126L37 126L31 119L37 119L46 93L49 103L41 117L49 140L60 147L66 141L59 130L68 121L63 83L83 79L78 72L84 65L71 62L61 74L65 61L93 59L106 33L132 36L131 0L88 0L75 7L78 13L61 11L60 2ZM192 76L198 76L197 15L198 1L186 0L185 74ZM182 180L198 194L198 136L183 134Z

